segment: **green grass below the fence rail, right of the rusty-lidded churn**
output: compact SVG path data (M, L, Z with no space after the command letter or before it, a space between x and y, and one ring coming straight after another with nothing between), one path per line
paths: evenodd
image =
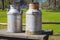
M60 33L60 24L43 24L43 29L53 30L53 33Z

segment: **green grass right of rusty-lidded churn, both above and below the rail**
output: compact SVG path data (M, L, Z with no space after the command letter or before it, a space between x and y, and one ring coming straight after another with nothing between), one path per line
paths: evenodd
M60 22L60 10L42 10L42 21ZM60 33L60 24L43 24L43 29L52 29L54 33Z

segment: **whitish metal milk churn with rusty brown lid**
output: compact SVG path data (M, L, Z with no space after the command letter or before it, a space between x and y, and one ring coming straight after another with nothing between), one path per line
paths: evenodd
M38 3L30 3L26 12L26 34L40 34L42 31L42 15L38 9Z

